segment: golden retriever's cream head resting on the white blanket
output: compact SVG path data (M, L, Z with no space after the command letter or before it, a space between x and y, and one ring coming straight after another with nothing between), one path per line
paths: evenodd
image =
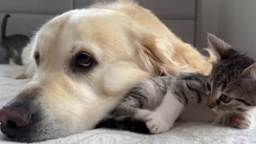
M32 43L34 78L0 112L2 132L35 142L94 128L142 78L165 71L155 42L114 10L52 19Z

